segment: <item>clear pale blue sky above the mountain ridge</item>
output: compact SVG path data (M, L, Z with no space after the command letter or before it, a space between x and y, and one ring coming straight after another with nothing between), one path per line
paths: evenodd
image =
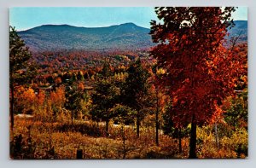
M247 20L247 7L239 7L232 17L234 20ZM9 25L15 26L18 31L47 24L101 27L127 22L149 28L150 20L157 20L153 7L15 7L9 9Z

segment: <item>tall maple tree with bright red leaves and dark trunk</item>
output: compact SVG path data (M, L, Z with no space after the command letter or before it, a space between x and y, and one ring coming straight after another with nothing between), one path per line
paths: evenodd
M196 126L216 119L221 102L234 93L237 80L246 72L244 57L225 43L235 8L156 8L160 20L151 22L157 46L151 54L164 68L160 85L172 96L173 121L191 123L189 158L196 158Z

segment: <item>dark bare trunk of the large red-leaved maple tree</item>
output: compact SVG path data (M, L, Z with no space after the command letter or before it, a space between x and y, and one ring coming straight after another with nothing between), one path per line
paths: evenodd
M189 159L196 159L196 123L195 116L192 118L190 143L189 143Z

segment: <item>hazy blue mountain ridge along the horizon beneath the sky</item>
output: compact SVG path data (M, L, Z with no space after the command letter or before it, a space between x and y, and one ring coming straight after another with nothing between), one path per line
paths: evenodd
M230 37L241 32L241 41L247 40L247 21L235 21ZM61 49L148 49L154 46L150 30L133 23L107 27L77 27L69 25L43 25L18 32L33 51Z

